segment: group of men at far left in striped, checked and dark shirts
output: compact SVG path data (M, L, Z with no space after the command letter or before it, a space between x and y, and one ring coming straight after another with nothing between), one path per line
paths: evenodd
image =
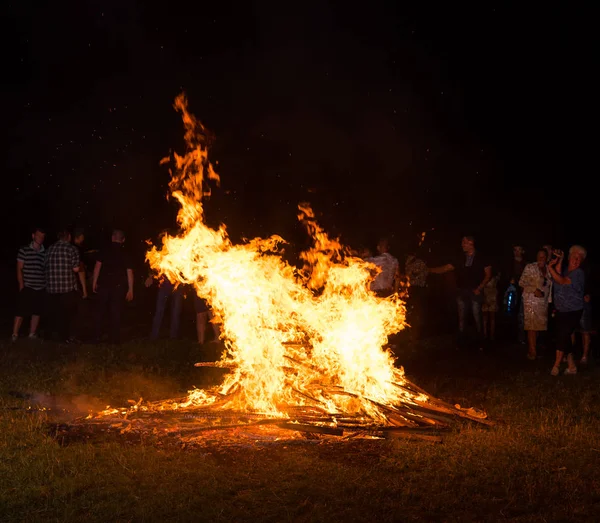
M12 341L19 338L25 318L29 321L29 338L38 338L40 318L44 316L45 337L64 343L79 341L82 300L88 287L96 294L94 334L99 341L105 333L108 316L108 340L120 342L121 316L125 301L133 300L133 264L124 248L125 234L116 229L111 242L97 253L91 281L83 263L82 230L58 233L58 241L44 247L46 233L36 228L31 242L19 249L17 282L19 294L13 322Z

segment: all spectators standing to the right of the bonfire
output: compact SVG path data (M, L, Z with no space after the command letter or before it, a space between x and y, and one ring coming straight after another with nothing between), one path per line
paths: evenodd
M483 350L493 342L496 316L502 311L516 331L515 341L527 345L528 359L537 359L539 345L555 349L553 376L560 373L563 363L565 374L577 373L573 356L576 333L582 340L579 363L588 363L592 305L584 247L573 245L565 256L563 251L544 245L537 250L535 261L527 263L523 247L515 245L510 263L498 267L475 248L474 237L464 236L461 247L462 256L435 267L428 267L415 249L402 267L389 254L388 242L382 240L376 256L363 253L366 260L381 268L372 290L385 296L406 285L408 322L418 337L427 317L428 281L434 275L453 272L459 346L472 342ZM468 320L474 327L471 337L467 335Z

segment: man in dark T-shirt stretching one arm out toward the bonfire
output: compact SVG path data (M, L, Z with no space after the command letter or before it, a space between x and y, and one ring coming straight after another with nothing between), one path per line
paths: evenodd
M458 306L458 331L464 338L467 308L470 306L475 320L478 342L481 347L483 335L483 320L481 306L483 304L483 289L492 278L492 266L475 250L475 238L464 236L461 241L463 256L440 267L429 269L432 274L444 274L454 271L456 274L456 303Z

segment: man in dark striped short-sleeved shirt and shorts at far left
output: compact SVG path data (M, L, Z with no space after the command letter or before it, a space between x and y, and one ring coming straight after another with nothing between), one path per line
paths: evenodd
M37 328L44 307L46 288L45 237L46 233L42 229L35 229L31 235L31 243L19 249L17 255L19 297L17 300L17 315L13 324L12 341L17 341L19 337L23 318L30 316L29 337L37 338Z

